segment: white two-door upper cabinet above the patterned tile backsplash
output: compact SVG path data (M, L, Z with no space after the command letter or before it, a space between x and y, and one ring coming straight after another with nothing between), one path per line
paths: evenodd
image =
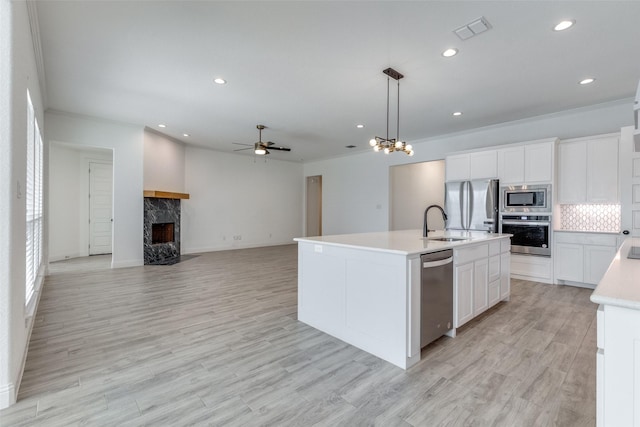
M558 203L619 203L618 137L558 144Z

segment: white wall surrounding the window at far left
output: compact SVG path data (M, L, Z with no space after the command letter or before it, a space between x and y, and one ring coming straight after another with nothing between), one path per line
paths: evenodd
M24 189L27 89L46 132L38 82L26 2L0 0L0 409L16 401L33 325L25 310ZM45 175L47 156L45 148ZM43 260L46 225L44 236Z

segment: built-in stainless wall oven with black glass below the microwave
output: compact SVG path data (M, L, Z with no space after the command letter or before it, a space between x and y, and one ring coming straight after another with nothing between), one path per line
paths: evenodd
M551 256L551 215L503 213L500 232L512 234L511 253Z

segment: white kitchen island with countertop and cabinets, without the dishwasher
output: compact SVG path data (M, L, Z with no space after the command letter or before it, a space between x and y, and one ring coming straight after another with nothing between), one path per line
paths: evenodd
M510 235L422 230L296 238L298 319L396 366L420 360L420 255L453 249L453 327L509 299ZM441 241L438 238L464 240Z

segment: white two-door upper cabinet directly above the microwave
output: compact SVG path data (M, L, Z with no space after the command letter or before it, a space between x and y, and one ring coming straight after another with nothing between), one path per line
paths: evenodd
M500 184L540 184L553 180L555 140L498 150Z

